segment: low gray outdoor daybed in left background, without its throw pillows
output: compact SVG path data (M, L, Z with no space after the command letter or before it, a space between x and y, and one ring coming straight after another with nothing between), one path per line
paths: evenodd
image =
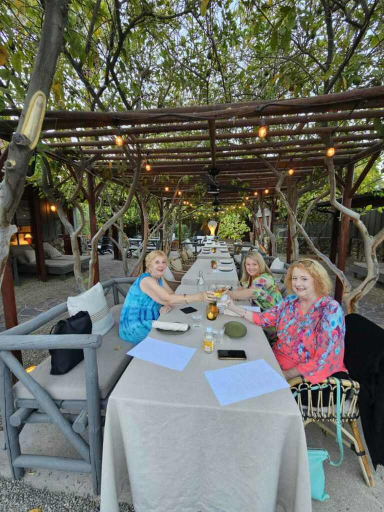
M34 249L30 245L11 245L10 254L12 256L12 265L14 275L20 272L32 273L37 272L36 262L28 261L26 252L34 254ZM91 260L90 256L80 256L81 271L86 270ZM73 272L73 254L61 254L56 258L49 258L44 260L48 274L65 275Z

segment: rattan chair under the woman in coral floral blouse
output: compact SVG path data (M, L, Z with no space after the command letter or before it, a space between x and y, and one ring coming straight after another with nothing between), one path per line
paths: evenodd
M340 420L342 422L343 443L350 447L358 457L361 471L369 487L375 485L372 476L370 464L362 445L357 419L360 415L357 406L357 398L360 391L360 385L355 380L340 380ZM296 392L296 402L303 417L304 427L309 423L315 423L325 433L331 434L336 438L335 431L331 428L336 423L336 381L333 377L311 384L303 377L294 377L290 379L289 385L292 392ZM318 386L328 385L323 389L317 389ZM331 389L329 397L325 391ZM328 394L328 393L327 393ZM349 426L350 430L346 428Z

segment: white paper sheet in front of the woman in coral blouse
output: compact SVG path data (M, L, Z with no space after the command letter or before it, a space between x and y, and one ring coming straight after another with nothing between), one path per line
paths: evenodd
M204 373L221 406L289 388L264 359Z

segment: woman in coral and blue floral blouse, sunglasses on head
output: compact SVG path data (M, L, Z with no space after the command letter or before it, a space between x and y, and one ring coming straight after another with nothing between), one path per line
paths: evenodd
M343 310L332 297L331 281L315 260L302 259L288 269L288 295L264 313L252 313L228 302L228 309L260 327L276 326L273 352L286 377L302 375L312 383L331 375L348 378L344 366Z

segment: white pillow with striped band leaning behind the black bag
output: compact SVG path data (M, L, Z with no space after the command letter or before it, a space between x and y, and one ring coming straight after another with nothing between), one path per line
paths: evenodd
M95 284L81 295L68 297L67 308L71 316L79 311L88 311L92 321L92 334L103 335L115 325L115 318L106 304L103 287L100 283Z

